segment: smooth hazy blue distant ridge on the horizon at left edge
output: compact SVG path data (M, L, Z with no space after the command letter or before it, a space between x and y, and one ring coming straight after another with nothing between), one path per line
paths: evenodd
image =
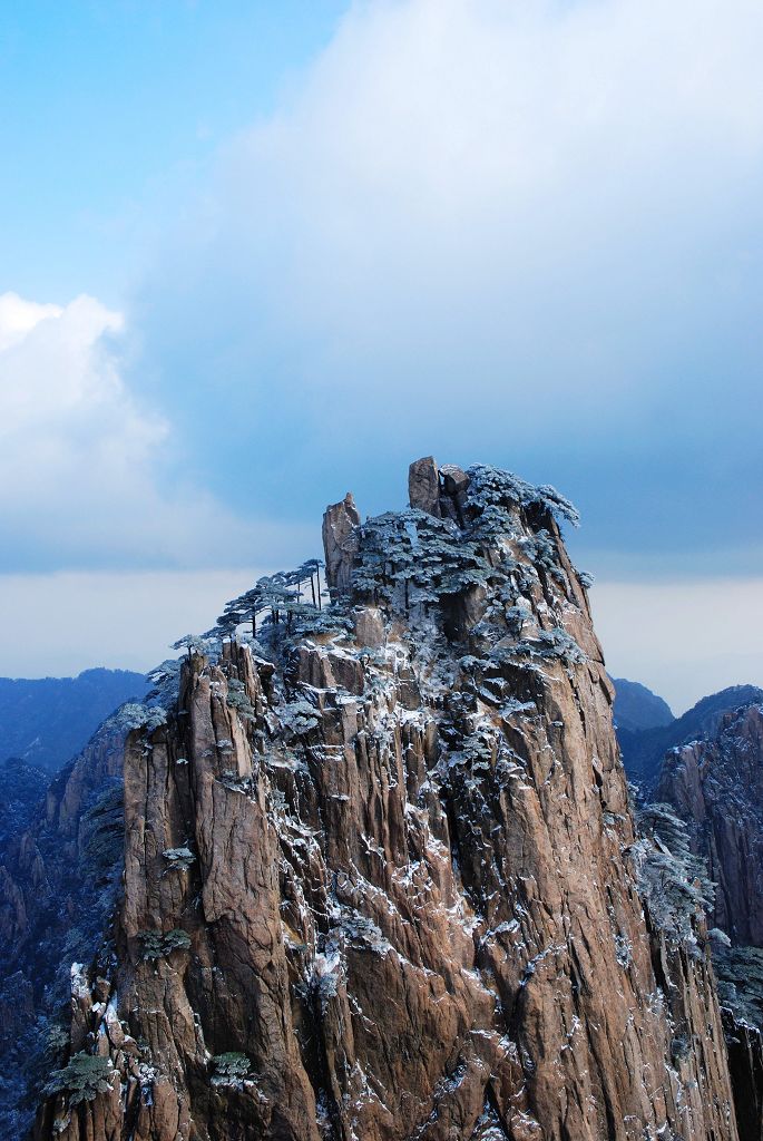
M57 772L117 705L147 689L141 673L104 667L76 678L0 678L0 762L18 756Z

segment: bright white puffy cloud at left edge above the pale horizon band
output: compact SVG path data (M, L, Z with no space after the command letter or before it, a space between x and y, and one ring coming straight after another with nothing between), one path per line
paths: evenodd
M246 560L259 542L284 537L277 526L245 527L198 488L193 454L124 385L122 329L94 298L0 298L6 568L219 565L224 551Z

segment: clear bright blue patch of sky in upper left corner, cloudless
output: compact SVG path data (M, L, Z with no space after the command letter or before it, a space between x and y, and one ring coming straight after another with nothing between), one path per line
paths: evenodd
M135 246L330 40L338 0L25 0L0 13L2 288L121 305Z

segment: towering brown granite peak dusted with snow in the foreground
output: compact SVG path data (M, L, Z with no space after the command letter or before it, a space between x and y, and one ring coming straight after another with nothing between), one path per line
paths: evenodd
M707 954L638 892L568 505L461 475L130 737L117 955L73 992L113 1069L39 1139L737 1139Z

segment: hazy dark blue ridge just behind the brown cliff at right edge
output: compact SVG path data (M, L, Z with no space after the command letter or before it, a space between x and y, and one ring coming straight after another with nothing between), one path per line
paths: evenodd
M763 689L757 686L730 686L703 697L669 725L641 730L618 725L617 739L628 777L638 782L647 795L652 795L663 758L669 748L712 736L725 713L750 702L763 702Z

